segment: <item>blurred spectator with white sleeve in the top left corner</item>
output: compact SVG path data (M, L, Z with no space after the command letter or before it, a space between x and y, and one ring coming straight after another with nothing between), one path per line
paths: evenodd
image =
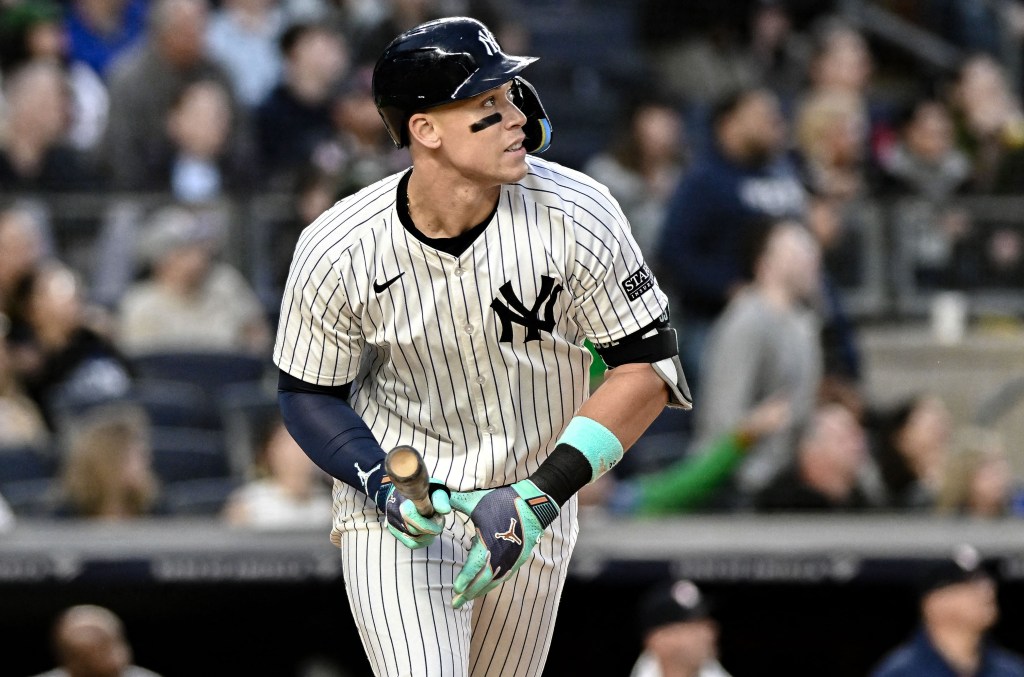
M0 11L0 70L9 75L33 60L52 61L65 72L71 103L67 141L94 151L106 127L106 85L70 52L63 9L50 0L19 0Z

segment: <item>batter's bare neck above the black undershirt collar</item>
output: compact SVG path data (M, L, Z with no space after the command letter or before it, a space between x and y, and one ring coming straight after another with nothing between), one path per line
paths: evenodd
M495 209L501 186L481 188L469 181L438 180L414 171L409 179L409 215L428 238L455 238L480 223Z

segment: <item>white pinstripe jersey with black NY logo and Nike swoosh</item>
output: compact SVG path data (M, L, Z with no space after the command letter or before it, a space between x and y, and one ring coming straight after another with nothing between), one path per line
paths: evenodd
M668 308L607 189L526 162L458 257L403 227L401 173L345 198L302 232L282 301L274 363L352 382L381 446L415 447L453 490L537 470L588 396L584 339L618 340ZM347 484L335 496L342 521L373 510Z

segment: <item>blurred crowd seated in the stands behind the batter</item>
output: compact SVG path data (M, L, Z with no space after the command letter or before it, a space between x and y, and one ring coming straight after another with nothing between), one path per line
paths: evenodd
M629 49L561 87L582 67L531 12L601 4L0 2L13 514L323 526L327 478L266 425L276 294L304 225L408 166L370 74L391 36L451 14L547 59L552 159L609 187L672 299L697 407L659 419L591 506L1014 513L996 432L954 420L941 393L865 395L848 293L880 198L902 206L886 243L915 291L1024 280L1020 228L957 203L1021 191L1021 83L997 38L1024 33L1024 3L971 22L970 3L883 3L955 64L872 41L840 3L604 3Z

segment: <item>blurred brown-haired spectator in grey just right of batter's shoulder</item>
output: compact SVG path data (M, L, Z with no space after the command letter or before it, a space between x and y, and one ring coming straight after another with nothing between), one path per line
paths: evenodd
M678 108L651 96L629 108L615 138L584 167L618 201L644 257L654 256L666 205L685 162L686 139Z

